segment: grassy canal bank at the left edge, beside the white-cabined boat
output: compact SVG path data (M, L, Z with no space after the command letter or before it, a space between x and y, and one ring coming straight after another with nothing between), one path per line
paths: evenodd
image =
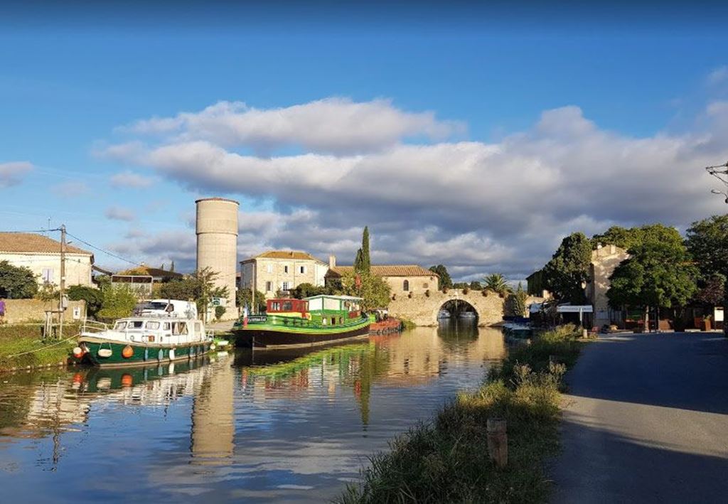
M0 371L26 366L40 367L66 362L74 339L68 342L43 342L41 323L7 324L0 326ZM64 338L78 334L79 324L68 324L63 328ZM31 350L33 351L32 353ZM17 355L23 354L23 355ZM15 357L14 355L17 355Z

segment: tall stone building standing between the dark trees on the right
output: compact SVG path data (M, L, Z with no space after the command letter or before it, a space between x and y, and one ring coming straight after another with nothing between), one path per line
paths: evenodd
M585 294L594 310L594 326L601 327L604 324L621 323L623 320L622 310L612 310L609 307L609 299L606 291L609 290L609 277L612 276L614 268L620 262L628 259L629 254L624 248L617 245L597 245L596 251L592 251L592 259L589 271L589 282Z

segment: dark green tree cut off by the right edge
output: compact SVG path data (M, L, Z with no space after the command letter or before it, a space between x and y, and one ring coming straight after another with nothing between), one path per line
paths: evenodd
M728 279L728 214L693 222L687 230L686 244L704 279L716 274ZM728 283L724 283L723 307L728 315ZM723 323L725 336L727 322Z

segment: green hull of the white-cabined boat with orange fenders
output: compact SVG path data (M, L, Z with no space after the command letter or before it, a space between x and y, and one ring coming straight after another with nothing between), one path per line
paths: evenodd
M212 342L194 342L175 345L140 344L134 342L115 342L108 339L82 336L79 346L84 345L88 352L84 354L83 361L93 366L139 366L143 364L180 361L182 359L199 358L210 351ZM125 347L131 347L132 355L124 357ZM111 350L111 355L103 357L99 350Z

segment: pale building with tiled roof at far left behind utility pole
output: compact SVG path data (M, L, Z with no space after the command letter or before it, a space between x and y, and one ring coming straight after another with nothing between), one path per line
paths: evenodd
M60 285L60 242L35 233L0 232L0 261L31 269L40 285ZM66 245L66 286L92 286L93 254Z

